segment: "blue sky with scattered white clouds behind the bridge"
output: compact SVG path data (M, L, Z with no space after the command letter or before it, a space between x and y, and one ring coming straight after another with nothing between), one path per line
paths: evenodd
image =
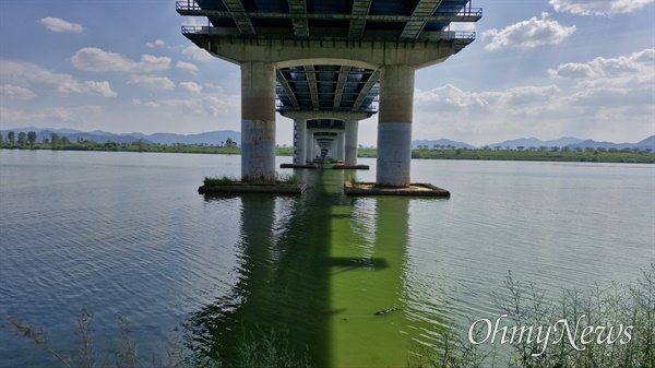
M655 134L655 0L473 0L476 40L416 71L413 139L638 142ZM240 130L240 69L172 0L0 0L0 129ZM277 143L293 121L277 115ZM377 116L359 123L376 145Z

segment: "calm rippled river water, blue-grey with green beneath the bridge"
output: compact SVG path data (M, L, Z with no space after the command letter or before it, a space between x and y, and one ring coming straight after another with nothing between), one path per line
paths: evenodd
M374 180L359 163L297 170L298 197L203 197L239 156L2 150L0 314L64 352L87 308L98 349L120 313L145 360L177 339L229 352L259 325L319 366L403 366L413 340L497 316L509 271L557 297L655 262L654 165L415 159L413 181L450 199L345 197L348 175ZM53 365L0 329L0 366Z

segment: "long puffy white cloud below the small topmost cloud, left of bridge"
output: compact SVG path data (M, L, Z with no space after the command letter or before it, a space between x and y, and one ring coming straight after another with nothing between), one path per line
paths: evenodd
M72 58L73 67L90 72L144 72L170 69L170 58L152 55L141 56L140 61L134 61L124 56L105 51L95 47L79 50Z

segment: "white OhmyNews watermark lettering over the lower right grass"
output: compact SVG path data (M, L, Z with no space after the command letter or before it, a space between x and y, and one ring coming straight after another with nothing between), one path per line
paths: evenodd
M598 344L614 344L618 341L619 344L623 345L628 344L630 340L632 340L633 327L623 327L622 323L617 327L587 325L580 331L580 322L586 317L585 314L580 316L575 322L574 329L571 329L571 325L567 319L561 319L555 322L552 325L501 327L501 320L507 317L508 314L500 316L498 319L496 319L496 323L491 323L491 321L486 318L474 321L468 328L468 341L474 345L479 345L487 342L495 344L498 341L497 339L500 339L500 344L533 344L536 342L539 346L541 346L541 349L538 353L533 353L532 356L540 356L544 354L544 352L546 352L548 344L557 345L562 343L562 341L568 341L568 343L571 344L574 349L581 352L586 348L585 345L593 342ZM480 339L479 335L474 334L474 330L478 323L481 323L480 328L485 329L479 332L487 332L486 334L483 333L485 339Z

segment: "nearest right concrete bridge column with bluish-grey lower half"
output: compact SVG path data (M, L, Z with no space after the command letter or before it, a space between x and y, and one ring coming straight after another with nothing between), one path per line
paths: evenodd
M382 67L376 174L379 186L408 187L410 183L413 103L414 68Z

